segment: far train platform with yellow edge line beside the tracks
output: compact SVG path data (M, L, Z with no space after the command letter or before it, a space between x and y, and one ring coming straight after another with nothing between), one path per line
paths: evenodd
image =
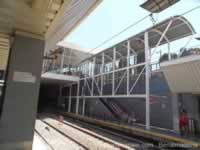
M200 140L197 138L190 137L181 137L175 132L169 130L161 130L152 128L150 130L145 130L144 127L141 126L128 126L125 124L117 124L110 121L103 121L94 118L89 118L73 113L63 113L66 117L71 117L74 119L78 119L80 121L94 124L97 126L101 126L104 128L109 128L111 130L116 130L125 134L129 134L130 136L143 138L150 141L155 141L160 144L167 143L168 146L177 146L178 148L200 148Z

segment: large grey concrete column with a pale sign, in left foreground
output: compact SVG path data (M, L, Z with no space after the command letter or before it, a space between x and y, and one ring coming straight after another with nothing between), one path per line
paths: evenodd
M44 41L16 35L0 120L0 149L32 149Z

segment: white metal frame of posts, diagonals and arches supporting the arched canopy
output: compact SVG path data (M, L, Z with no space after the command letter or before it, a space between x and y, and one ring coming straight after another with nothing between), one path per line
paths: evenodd
M179 19L178 18L175 18L175 19ZM154 52L156 52L157 48L160 46L161 42L163 39L166 40L167 44L168 44L168 57L169 57L169 60L171 59L171 55L170 55L170 41L169 39L166 37L166 33L167 31L170 29L172 23L173 23L174 19L172 18L171 20L169 20L169 22L167 22L167 26L165 27L164 31L159 31L159 30L156 30L156 29L150 29L150 30L147 30L144 32L144 40L143 39L140 39L142 41L142 43L144 44L144 55L145 55L145 60L144 62L141 62L141 63L138 63L136 62L136 64L134 65L130 65L130 52L133 52L134 55L137 56L137 53L135 52L134 49L131 48L131 41L133 39L128 39L126 40L126 44L125 45L123 43L120 43L121 45L120 46L123 46L126 48L127 50L127 56L124 56L123 54L121 54L119 51L117 51L117 46L114 46L112 49L109 48L109 50L112 50L112 57L105 54L105 51L98 54L98 56L102 56L102 64L101 64L101 70L100 70L100 73L98 74L95 74L95 60L97 59L97 56L93 56L93 73L92 73L92 76L89 76L89 77L84 77L84 78L81 78L80 81L84 81L84 87L87 86L88 89L89 89L89 92L91 93L90 95L85 95L84 93L79 95L79 92L77 92L77 96L74 96L74 97L77 97L77 103L78 103L78 99L79 97L81 98L84 98L84 100L86 98L144 98L146 99L145 101L145 108L146 108L146 129L149 130L150 129L150 75L151 75L151 57L152 55L154 54ZM149 44L149 33L150 32L155 32L157 34L160 35L160 38L158 40L158 42L156 43L155 45L155 49L153 52L151 52L151 48L150 48L150 44ZM138 39L138 37L136 37L135 39ZM116 68L116 61L117 61L117 55L120 56L120 59L121 58L126 58L127 59L127 66L126 67L123 67L123 68ZM106 58L109 58L109 60L111 61L112 63L112 70L111 71L108 71L108 72L105 72L105 57ZM91 59L91 58L90 58ZM130 69L133 69L133 68L137 68L137 67L141 67L143 66L142 70L140 72L138 72L138 77L136 78L136 80L134 81L133 85L130 87ZM119 83L116 85L116 82L115 82L115 79L116 79L116 74L117 72L123 72L123 75L122 77L120 78L120 81ZM145 72L144 72L145 71ZM103 88L104 88L104 76L105 75L108 75L108 74L111 74L112 75L112 93L110 95L104 95L103 94ZM134 88L136 87L136 84L138 83L139 79L141 78L142 75L145 74L145 93L144 94L131 94L132 91L134 90ZM100 87L99 87L99 84L96 82L96 77L100 77L101 79L101 84L100 84ZM123 95L119 95L117 94L117 90L119 89L122 81L124 80L124 78L127 78L127 81L126 81L126 87L127 87L127 91L125 94ZM87 79L90 79L92 80L92 89L90 89L89 87L89 84L87 82ZM94 85L96 85L97 87L97 90L99 92L99 95L94 95ZM77 86L79 87L79 85ZM79 90L79 88L77 89L77 91ZM77 105L78 107L78 105ZM85 104L83 104L83 108L85 109ZM84 112L82 112L82 114L84 114Z

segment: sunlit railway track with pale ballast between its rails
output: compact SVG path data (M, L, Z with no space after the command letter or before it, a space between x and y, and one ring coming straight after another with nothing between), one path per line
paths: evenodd
M56 119L47 118L47 119L39 119L39 120L41 122L43 122L45 124L45 126L48 127L50 130L52 130L52 129L55 130L56 132L58 132L59 134L61 134L64 137L70 139L71 141L78 144L80 147L82 147L85 150L95 150L95 149L129 150L129 149L133 149L126 145L112 141L108 138L99 136L91 131L87 131L83 128L78 128L77 126L69 125L67 123L61 123ZM72 134L70 135L70 133L67 130L64 130L64 128L69 128L68 131L71 131L71 132L72 132L72 128L73 128L74 130L76 130L77 134L80 134L80 135L82 134L82 136L83 136L83 134L85 134L85 137L87 135L87 137L88 138L90 137L91 140L84 139L85 141L83 141L83 138L81 140L81 138L78 136L76 137L76 136L73 136ZM92 144L92 142L93 142L93 144ZM98 145L99 143L101 143L101 144Z

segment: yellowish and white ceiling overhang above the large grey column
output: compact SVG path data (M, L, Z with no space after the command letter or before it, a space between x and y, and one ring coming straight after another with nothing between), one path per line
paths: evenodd
M0 0L0 33L28 32L55 48L101 0ZM34 36L36 37L36 36Z

